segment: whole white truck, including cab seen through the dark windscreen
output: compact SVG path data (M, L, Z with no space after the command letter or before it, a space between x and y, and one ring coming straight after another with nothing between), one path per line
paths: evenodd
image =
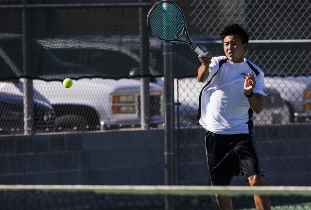
M139 40L139 37L132 38ZM140 66L137 46L120 49L119 41L115 42L106 36L33 39L31 44L36 49L31 56L32 67L40 69L41 73L56 72L57 74L60 72L63 74L67 72L72 75L96 76L101 75L99 71L102 73L103 69L107 69L107 71L117 72L116 75L120 78L134 77L135 69L137 70ZM13 53L18 52L21 46L20 35L5 34L0 39L2 49L0 61L4 61L3 72L7 75L20 76L22 74L21 60ZM67 56L69 53L72 56ZM109 58L116 56L126 64L126 68L118 64L111 65ZM10 84L0 82L0 91L23 96L22 83L23 80ZM69 89L66 89L60 81L34 80L33 85L34 98L51 103L56 114L57 131L104 130L140 126L140 81L138 80L81 79L74 80L73 86ZM149 87L150 124L153 127L162 126L164 115L160 101L163 89L153 82Z

